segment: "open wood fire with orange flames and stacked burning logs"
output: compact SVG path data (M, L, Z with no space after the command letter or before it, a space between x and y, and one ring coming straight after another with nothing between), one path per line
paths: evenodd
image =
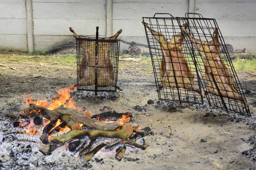
M131 113L104 112L93 115L89 111L77 108L70 93L76 86L62 88L51 101L34 100L24 94L24 102L28 106L24 115L10 116L11 125L18 128L24 137L22 141L42 142L40 148L44 155L50 155L56 148L68 147L74 154L79 152L86 162L97 152L113 152L120 161L126 147L145 150L143 137L151 133L150 128L140 129L132 126ZM141 139L141 145L137 140Z

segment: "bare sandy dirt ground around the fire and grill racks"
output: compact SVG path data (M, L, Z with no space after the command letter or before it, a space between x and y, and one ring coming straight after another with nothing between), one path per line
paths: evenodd
M0 67L6 70L0 74L1 117L23 112L26 108L24 93L36 100L49 100L56 90L76 84L76 67L73 66L4 65ZM252 139L256 128L255 73L237 71L242 88L247 91L251 117L226 114L217 109L213 109L214 114L205 116L207 109L198 109L192 104L171 109L168 103L158 100L154 75L140 73L135 68L120 70L118 85L123 91L111 93L110 97L73 92L77 107L92 114L102 110L130 112L135 124L141 128L149 126L154 131L146 137L150 145L146 150L127 151L121 162L115 160L114 154L95 155L93 160L103 158L104 163L92 161L92 169L255 169L256 141ZM148 100L154 104L147 104ZM246 155L244 151L254 154ZM67 164L63 166L68 169Z

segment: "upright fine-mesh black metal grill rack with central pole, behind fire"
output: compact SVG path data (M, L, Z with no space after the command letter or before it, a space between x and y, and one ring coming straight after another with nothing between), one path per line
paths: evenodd
M119 40L79 36L77 48L77 90L117 91Z

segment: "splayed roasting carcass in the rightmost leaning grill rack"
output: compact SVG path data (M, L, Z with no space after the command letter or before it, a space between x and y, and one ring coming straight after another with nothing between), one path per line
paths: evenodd
M207 80L208 84L208 89L205 91L205 95L208 93L217 96L221 95L223 97L228 97L229 99L241 100L246 105L249 105L238 94L237 88L234 86L232 76L229 73L229 68L221 59L220 43L218 41L218 30L214 29L213 40L202 41L189 35L184 28L181 29L188 36L193 46L199 50L199 53L203 58L205 79ZM220 94L218 93L213 78L217 84L218 89L220 90Z

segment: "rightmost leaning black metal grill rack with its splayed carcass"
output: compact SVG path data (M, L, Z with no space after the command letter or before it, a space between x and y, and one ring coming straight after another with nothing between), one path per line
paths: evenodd
M195 13L185 14L185 19L188 23L185 41L193 46L199 75L203 75L203 89L208 93L208 103L226 112L250 116L249 106L216 20ZM180 26L184 24L184 18L177 20Z

